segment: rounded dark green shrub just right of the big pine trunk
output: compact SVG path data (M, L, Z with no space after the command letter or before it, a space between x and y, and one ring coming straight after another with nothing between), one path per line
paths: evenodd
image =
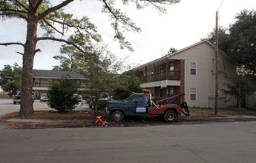
M73 96L76 93L74 82L71 79L59 79L48 87L48 106L59 111L73 110L79 99Z

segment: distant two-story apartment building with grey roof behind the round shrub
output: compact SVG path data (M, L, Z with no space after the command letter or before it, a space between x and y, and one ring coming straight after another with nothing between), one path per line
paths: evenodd
M63 79L68 76L68 79L73 79L79 91L88 88L88 82L85 76L73 71L53 71L53 70L33 70L33 91L39 97L42 93L47 93L49 84L54 80Z

